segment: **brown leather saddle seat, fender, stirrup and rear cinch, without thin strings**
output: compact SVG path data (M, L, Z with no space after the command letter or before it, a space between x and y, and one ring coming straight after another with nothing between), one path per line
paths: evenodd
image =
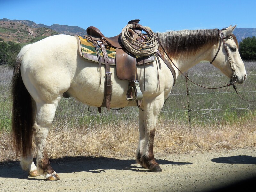
M139 23L140 20L132 20L129 21L128 24L132 22ZM102 32L94 27L90 26L86 29L87 36L89 36L92 41L97 41L100 39L102 41L102 44L105 47L115 47L116 48L116 73L117 77L121 80L128 80L129 88L126 94L126 99L129 101L134 101L134 100L141 100L143 95L139 87L139 82L137 80L137 60L136 56L132 55L127 51L122 42L121 42L121 33L117 36L114 37L105 37ZM131 31L130 33L133 33ZM141 33L141 31L140 31ZM134 34L132 34L134 35ZM102 49L102 47L101 47ZM103 48L104 49L104 48ZM104 56L104 51L102 50L103 56ZM106 56L107 57L107 56ZM104 60L106 59L104 56ZM141 59L138 60L140 63ZM110 110L110 98L112 94L112 82L108 82L110 77L111 79L111 73L110 70L108 70L108 61L105 60L105 65L106 65L106 79L107 82L105 82L105 97L102 103L101 107L107 107L107 110ZM110 74L110 75L109 75ZM111 81L111 80L110 80ZM98 108L99 112L101 111L100 108Z

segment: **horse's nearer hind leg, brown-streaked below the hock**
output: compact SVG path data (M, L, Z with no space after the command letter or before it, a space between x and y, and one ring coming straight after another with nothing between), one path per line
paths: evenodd
M52 124L59 100L60 98L52 104L37 104L37 114L35 124L33 126L33 133L35 136L37 148L37 171L40 175L44 175L47 180L60 180L59 176L50 165L46 150L46 137L48 134L48 130Z

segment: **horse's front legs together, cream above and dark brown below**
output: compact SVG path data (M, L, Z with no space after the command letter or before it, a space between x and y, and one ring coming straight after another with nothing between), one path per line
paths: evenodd
M144 115L144 129L142 119L139 121L140 125L140 141L137 149L137 161L143 166L147 167L152 172L161 172L159 164L154 158L154 137L156 132L157 117L163 107L164 97L159 95L155 100L144 99L144 112L140 112L140 116Z

